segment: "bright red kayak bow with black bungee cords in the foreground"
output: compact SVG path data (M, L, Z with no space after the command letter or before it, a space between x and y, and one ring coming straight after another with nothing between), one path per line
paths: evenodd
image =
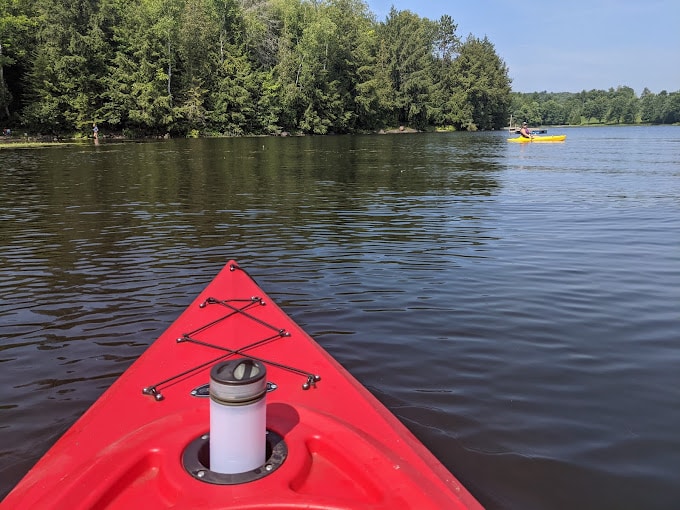
M208 483L215 363L263 361L271 471ZM205 388L202 388L203 390ZM144 390L144 391L143 391ZM194 393L196 393L194 391ZM283 448L283 450L281 449ZM281 451L283 455L279 455ZM279 452L279 453L276 453ZM274 459L279 455L283 459ZM209 462L208 462L209 463ZM234 261L55 443L2 508L478 509L411 432Z

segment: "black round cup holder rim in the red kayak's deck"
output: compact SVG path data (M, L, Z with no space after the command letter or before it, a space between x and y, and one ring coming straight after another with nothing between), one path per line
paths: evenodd
M238 485L264 478L276 471L288 457L283 437L272 430L266 434L267 460L261 466L244 473L217 473L210 469L210 434L194 439L182 453L184 469L196 480L213 485Z

